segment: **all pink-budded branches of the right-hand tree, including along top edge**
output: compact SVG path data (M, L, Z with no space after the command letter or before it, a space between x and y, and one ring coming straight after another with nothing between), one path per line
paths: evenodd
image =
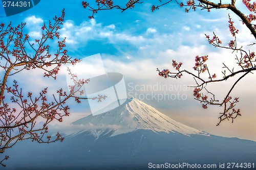
M90 8L90 10L94 14L94 13L97 13L98 11L114 9L115 7L117 7L116 9L119 9L123 12L124 10L133 8L135 5L138 5L139 3L143 3L140 0L128 1L126 3L126 7L128 7L128 8L121 8L119 5L116 5L116 6L113 5L113 4L117 3L118 1L115 1L115 2L111 1L111 4L109 2L110 1L107 1L107 0L105 0L105 1L97 1L96 0L96 4L97 4L98 8L95 8L94 5L91 5L87 2L82 2L82 6L84 8L87 8L87 7ZM120 3L120 2L118 2L118 3ZM160 9L162 6L165 6L165 5L171 4L171 3L174 3L174 5L179 5L181 8L185 7L186 13L188 13L190 10L196 11L197 9L207 10L208 12L210 12L210 10L214 10L214 9L230 10L230 11L232 11L233 14L237 15L241 19L240 21L243 23L243 25L245 25L248 28L251 35L256 39L256 24L255 24L256 2L251 3L251 0L242 0L242 3L247 8L249 15L245 15L244 13L242 13L239 10L240 6L238 6L236 4L236 0L230 0L229 3L227 2L225 4L223 4L221 0L219 0L217 2L216 1L206 1L206 0L188 0L188 1L159 0L158 4L152 5L151 11L153 12L157 9ZM101 4L100 7L99 7L99 4ZM130 7L129 4L132 4L132 6ZM92 18L92 17L89 17L89 18ZM255 53L246 51L246 50L244 50L244 48L242 46L241 47L238 46L236 35L239 33L239 30L237 30L234 27L233 23L234 22L232 21L230 15L228 15L229 31L230 31L230 34L232 35L233 39L230 40L227 45L222 45L222 41L215 33L213 33L212 37L210 37L209 35L205 35L205 36L208 40L208 43L213 45L214 47L225 48L227 50L230 50L231 53L238 52L239 55L236 55L235 60L237 61L237 64L240 67L240 69L234 70L234 68L229 68L225 63L223 63L223 68L224 68L224 70L222 71L223 77L217 78L216 74L210 73L210 70L207 66L207 60L208 60L207 55L201 56L201 57L196 56L195 65L193 67L195 72L188 71L187 69L181 69L182 63L181 62L178 63L175 60L173 60L173 63L172 63L175 71L170 71L169 69L159 70L157 68L159 76L164 77L164 78L178 79L178 78L181 78L183 76L183 74L188 74L188 75L193 76L196 81L196 85L194 86L194 96L195 96L196 100L198 100L200 103L202 103L202 107L204 109L207 109L208 105L219 105L219 106L223 107L223 112L220 113L219 123L217 124L217 126L220 125L220 123L225 119L228 119L228 120L231 119L231 121L233 122L233 120L235 118L237 118L238 116L241 115L240 109L235 108L237 103L239 102L239 100L238 100L239 98L232 98L232 96L230 96L230 94L231 94L232 90L235 88L235 86L237 85L237 83L239 81L241 81L241 79L243 79L250 72L253 72L254 70L256 70L256 65L254 64L254 62L256 61ZM253 42L252 44L248 44L248 45L254 45L254 44L256 44L256 43ZM202 76L203 74L207 75L207 77L208 77L207 80L205 80L203 78L203 76ZM236 82L233 83L232 87L226 93L223 100L217 100L215 94L208 91L206 88L207 84L223 82L223 81L226 81L229 78L237 76L237 75L239 76L239 78L237 78Z

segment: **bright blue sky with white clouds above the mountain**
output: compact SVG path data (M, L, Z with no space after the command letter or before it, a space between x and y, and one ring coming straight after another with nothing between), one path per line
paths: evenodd
M94 1L91 2L94 3ZM235 54L212 47L204 36L205 33L212 35L212 31L215 31L224 44L229 42L232 37L229 36L227 10L211 12L197 10L185 13L184 8L170 3L160 10L151 12L152 4L148 2L145 1L123 13L118 10L101 11L95 15L95 19L90 20L88 16L91 12L83 9L81 1L41 1L37 6L23 13L10 17L1 15L1 21L4 23L12 21L13 25L27 22L26 31L31 38L36 38L40 35L42 23L48 22L55 15L60 15L61 10L65 8L65 23L60 36L67 37L69 55L74 58L84 58L100 53L106 71L123 74L127 91L132 91L129 97L135 97L134 92L151 94L151 90L142 89L145 85L183 87L194 84L193 78L189 76L184 76L181 80L163 79L158 76L156 68L171 68L172 59L183 62L184 68L193 70L196 55L209 55L208 66L220 77L222 62L229 63L230 66L236 64L233 59ZM241 10L244 10L241 2L238 2L238 5ZM253 37L236 16L230 14L236 21L235 26L240 30L238 36L240 44L249 48L246 44L253 42ZM54 46L54 43L51 43ZM30 78L24 74L15 79L23 82L30 89L35 85L38 85L38 88L40 85L52 88L66 86L65 80L61 78L57 80L59 83L56 85L52 80L39 77L39 72L30 74ZM25 81L25 78L28 80ZM255 99L250 91L255 86L252 79L253 75L245 78L233 93L241 97L239 104L244 113L233 125L230 122L223 122L221 127L216 127L220 108L209 107L203 110L201 105L193 99L192 89L154 91L157 94L164 92L185 94L186 100L141 100L191 127L216 135L256 140L253 137L256 133L253 118L256 117L250 102ZM251 84L248 84L248 81ZM222 99L223 93L227 92L230 85L224 82L209 88ZM139 90L132 90L135 86ZM72 105L75 104L72 103ZM76 106L72 111L74 114L84 116L89 112L88 103Z

